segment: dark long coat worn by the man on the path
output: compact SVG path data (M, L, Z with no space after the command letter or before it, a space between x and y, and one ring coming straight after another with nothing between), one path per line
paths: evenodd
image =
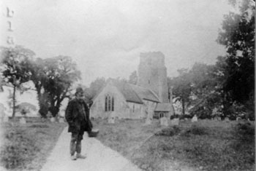
M86 116L83 114L83 109L80 108L80 103L84 106ZM89 107L84 101L80 102L77 98L70 100L65 113L65 118L69 124L68 132L91 132L92 124L89 117Z

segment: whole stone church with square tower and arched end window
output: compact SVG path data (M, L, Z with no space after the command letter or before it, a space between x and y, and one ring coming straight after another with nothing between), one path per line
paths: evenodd
M138 83L121 83L109 79L94 97L90 108L93 118L143 119L167 117L173 114L172 99L168 99L167 71L162 52L140 54Z

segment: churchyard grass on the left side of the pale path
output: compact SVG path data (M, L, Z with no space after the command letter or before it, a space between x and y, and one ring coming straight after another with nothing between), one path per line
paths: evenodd
M1 123L0 164L8 170L40 170L56 144L64 123L43 122L39 118Z

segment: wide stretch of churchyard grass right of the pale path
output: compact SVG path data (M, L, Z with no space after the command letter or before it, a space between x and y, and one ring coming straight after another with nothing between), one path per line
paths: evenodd
M93 121L98 139L142 170L254 170L254 122L182 121L160 127L159 120ZM239 124L240 123L240 124ZM246 124L247 123L247 124Z

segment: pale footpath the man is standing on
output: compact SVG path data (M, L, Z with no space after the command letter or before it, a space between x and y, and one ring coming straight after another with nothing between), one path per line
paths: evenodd
M104 146L99 140L89 138L87 134L83 135L81 153L86 154L87 158L72 161L69 158L70 137L66 127L41 171L140 171L121 154Z

